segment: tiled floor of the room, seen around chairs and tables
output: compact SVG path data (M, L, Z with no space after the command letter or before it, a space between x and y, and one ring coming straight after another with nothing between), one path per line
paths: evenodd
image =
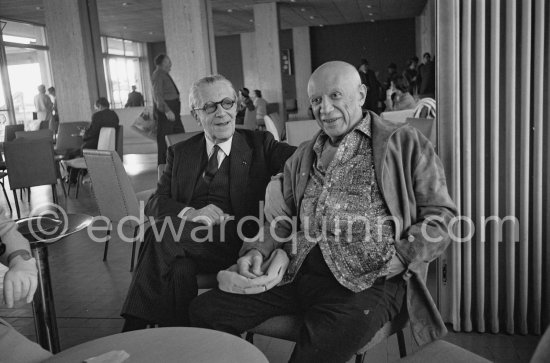
M125 155L124 162L136 191L155 187L155 155ZM60 204L68 212L99 214L89 184L80 189L78 199L74 197L74 189L68 199L63 197L61 191L59 194ZM49 187L33 188L31 195L30 206L21 203L24 216L41 203L51 201ZM0 196L0 204L7 210L3 196ZM129 236L131 231L125 233ZM102 261L103 247L103 243L92 242L87 231L49 247L62 349L120 332L120 307L131 279L131 245L114 236L105 263ZM30 339L35 339L30 305L20 305L15 309L0 308L0 316ZM445 339L489 360L506 363L528 362L539 337L451 332ZM262 336L255 337L255 344L273 363L286 362L293 347L290 342ZM407 334L407 346L409 350L416 350L410 334ZM394 336L370 351L366 361L394 362L398 358Z

